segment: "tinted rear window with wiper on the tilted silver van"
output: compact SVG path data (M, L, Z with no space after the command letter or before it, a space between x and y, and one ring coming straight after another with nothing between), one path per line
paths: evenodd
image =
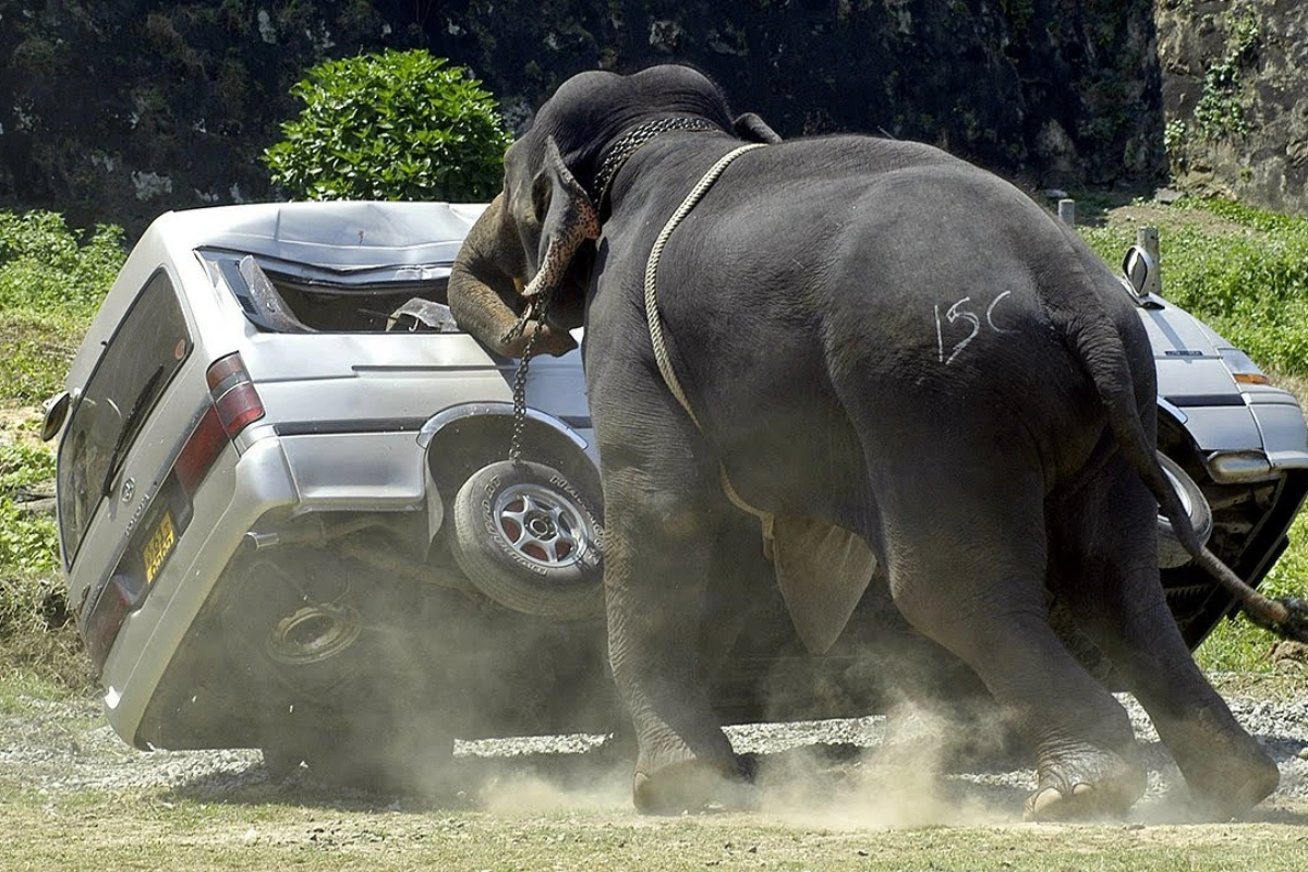
M105 346L65 425L56 490L67 560L191 345L173 282L157 272Z

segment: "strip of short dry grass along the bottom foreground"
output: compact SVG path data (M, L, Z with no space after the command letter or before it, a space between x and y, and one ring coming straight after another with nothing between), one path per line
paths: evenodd
M1070 869L1172 872L1308 864L1303 814L1220 825L867 829L721 814L638 818L300 804L167 792L46 795L0 788L0 872L20 869ZM129 821L129 824L128 824Z

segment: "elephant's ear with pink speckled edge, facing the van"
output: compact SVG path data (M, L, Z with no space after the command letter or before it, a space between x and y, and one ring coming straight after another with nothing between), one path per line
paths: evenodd
M568 170L553 137L545 141L545 161L532 182L531 201L542 227L536 275L522 292L527 298L557 288L582 243L599 238L595 204Z

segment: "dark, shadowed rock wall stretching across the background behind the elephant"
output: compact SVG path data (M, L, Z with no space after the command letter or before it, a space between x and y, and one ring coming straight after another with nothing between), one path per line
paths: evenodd
M0 0L0 208L140 230L277 196L258 156L320 60L425 46L515 126L568 76L714 76L782 135L940 144L1029 187L1163 179L1148 0Z

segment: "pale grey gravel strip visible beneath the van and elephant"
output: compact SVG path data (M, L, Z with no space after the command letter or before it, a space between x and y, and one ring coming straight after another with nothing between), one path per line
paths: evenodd
M1133 811L1133 818L1148 820L1175 800L1175 794L1168 800L1164 796L1184 782L1167 750L1158 743L1143 710L1130 697L1120 698L1131 716L1150 770L1148 791ZM1308 799L1308 699L1235 697L1228 702L1236 718L1258 737L1281 769L1281 787L1271 804ZM137 750L112 732L97 701L21 699L17 707L18 713L0 715L0 782L48 794L181 788L201 790L207 795L239 794L271 782L258 750ZM803 769L804 777L820 774L828 787L833 782L852 784L891 758L910 767L931 770L942 783L952 784L956 795L990 795L1005 805L1035 786L1036 777L1029 762L1011 752L980 754L963 762L961 769L930 758L923 749L935 746L930 736L938 727L930 719L910 714L746 724L730 727L727 732L736 750L760 761L760 773L770 773L773 782L789 779ZM938 732L935 735L938 737ZM603 758L604 741L604 736L587 733L459 741L455 757L456 765L463 765L464 770L496 782L526 774L557 773L560 766L570 763L589 765L593 770L607 771L610 787L621 794L623 784L629 783L629 770L621 761ZM595 758L602 760L596 763ZM479 770L479 766L483 769ZM494 774L489 775L492 766ZM313 777L306 770L292 778L313 786ZM460 791L459 795L479 790ZM1184 788L1180 792L1184 794Z

